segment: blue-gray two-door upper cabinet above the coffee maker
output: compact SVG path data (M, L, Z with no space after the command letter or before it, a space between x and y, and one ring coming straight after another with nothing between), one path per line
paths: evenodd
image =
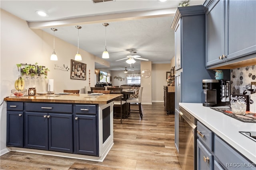
M253 59L256 53L256 1L207 0L204 6L207 8L206 67Z

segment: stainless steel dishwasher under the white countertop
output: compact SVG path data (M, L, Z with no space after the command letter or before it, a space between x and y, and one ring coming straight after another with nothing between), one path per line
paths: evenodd
M196 125L197 119L180 107L178 160L182 170L196 170Z

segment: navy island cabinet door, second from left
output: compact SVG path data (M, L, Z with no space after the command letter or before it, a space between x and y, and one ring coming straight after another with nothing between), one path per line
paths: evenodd
M47 115L48 113L25 112L26 148L48 150Z

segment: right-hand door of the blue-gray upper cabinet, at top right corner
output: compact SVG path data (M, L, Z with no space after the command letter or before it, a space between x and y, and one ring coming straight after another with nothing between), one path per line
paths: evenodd
M256 53L256 1L226 1L226 61Z

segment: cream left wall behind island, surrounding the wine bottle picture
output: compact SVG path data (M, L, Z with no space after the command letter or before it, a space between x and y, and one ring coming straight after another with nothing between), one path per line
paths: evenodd
M53 51L53 36L42 30L32 30L26 21L13 16L1 9L1 52L0 52L0 102L10 96L14 82L20 72L17 63L28 63L46 66L50 69L48 78L54 79L54 92L63 92L64 89L80 89L94 85L95 56L79 50L82 63L87 64L86 80L70 79L70 70L61 69L64 65L71 67L70 59L74 59L77 47L55 37L55 52L58 61L50 61ZM50 28L49 28L50 29ZM58 31L56 32L56 34ZM6 102L0 106L0 154L6 149Z

